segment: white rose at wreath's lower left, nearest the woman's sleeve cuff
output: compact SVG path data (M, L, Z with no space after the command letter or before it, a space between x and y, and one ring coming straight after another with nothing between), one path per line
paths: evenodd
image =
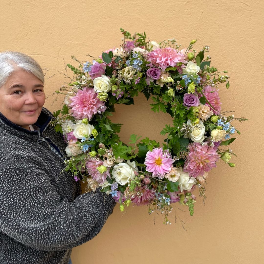
M121 185L125 185L129 180L133 180L136 177L134 171L138 170L138 167L134 161L127 161L127 163L130 166L124 162L121 162L118 165L115 165L114 169L112 170L112 176ZM133 168L135 170L133 170Z

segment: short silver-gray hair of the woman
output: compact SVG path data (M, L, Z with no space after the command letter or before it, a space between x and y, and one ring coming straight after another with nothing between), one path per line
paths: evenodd
M17 51L4 51L0 53L0 87L18 68L34 74L44 84L43 71L33 58Z

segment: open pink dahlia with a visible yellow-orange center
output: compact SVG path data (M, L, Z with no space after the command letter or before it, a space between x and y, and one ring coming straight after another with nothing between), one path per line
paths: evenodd
M152 172L153 177L158 176L159 179L162 179L165 173L171 171L173 162L170 153L163 152L163 148L155 148L147 152L144 164L147 166L146 170Z

